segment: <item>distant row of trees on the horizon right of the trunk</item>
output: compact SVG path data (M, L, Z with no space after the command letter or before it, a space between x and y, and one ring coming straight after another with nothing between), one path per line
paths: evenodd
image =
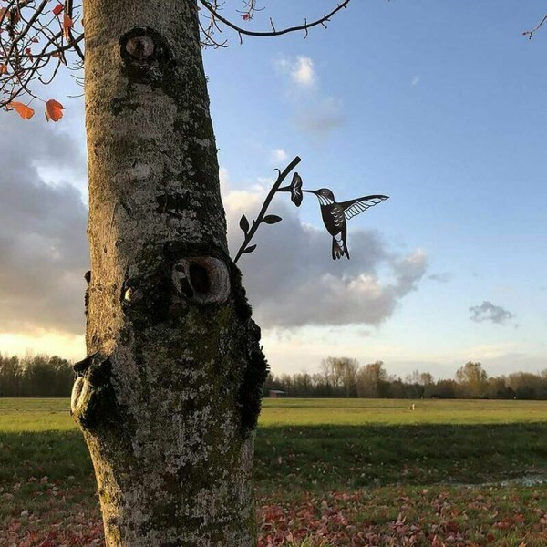
M272 390L284 392L282 397L547 399L547 370L489 377L480 363L470 361L455 379L436 381L418 370L404 379L389 376L382 361L360 366L356 359L328 357L315 374L270 374L264 397Z

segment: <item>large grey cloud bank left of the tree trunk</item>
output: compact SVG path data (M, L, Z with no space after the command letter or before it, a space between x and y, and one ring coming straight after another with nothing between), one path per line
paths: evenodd
M72 177L85 169L85 159L57 126L5 114L2 123L0 332L79 334L88 214L74 186L47 185L39 173Z

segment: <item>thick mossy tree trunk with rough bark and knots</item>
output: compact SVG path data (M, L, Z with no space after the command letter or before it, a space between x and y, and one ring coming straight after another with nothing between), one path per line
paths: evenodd
M266 362L228 256L195 0L85 0L91 274L72 412L108 546L251 546Z

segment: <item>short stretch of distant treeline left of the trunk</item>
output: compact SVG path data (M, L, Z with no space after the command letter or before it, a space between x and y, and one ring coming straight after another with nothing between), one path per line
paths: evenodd
M0 397L70 397L73 383L67 359L0 354Z

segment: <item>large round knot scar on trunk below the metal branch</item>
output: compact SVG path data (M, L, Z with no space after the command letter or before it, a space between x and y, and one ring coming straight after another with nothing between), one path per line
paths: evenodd
M173 266L171 277L177 292L198 304L222 304L230 294L228 268L212 256L181 259Z

